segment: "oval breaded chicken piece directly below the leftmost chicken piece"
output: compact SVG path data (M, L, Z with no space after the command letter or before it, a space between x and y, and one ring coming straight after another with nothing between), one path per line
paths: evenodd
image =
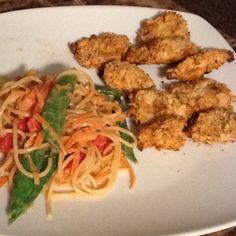
M155 86L150 76L137 65L117 60L105 65L103 79L109 87L127 92Z

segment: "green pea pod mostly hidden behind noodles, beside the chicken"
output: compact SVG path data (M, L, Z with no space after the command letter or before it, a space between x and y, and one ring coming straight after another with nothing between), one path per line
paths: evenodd
M107 88L107 87L103 87L103 86L96 86L96 89L99 93L109 97L111 100L115 100L117 101L120 106L122 107L122 109L125 109L125 103L122 101L122 97L124 98L124 94L117 89L111 89L111 88ZM123 122L118 122L118 125L121 128L124 129L128 129L128 125L127 122L124 120ZM132 143L133 139L132 137L130 137L128 134L125 133L120 133L120 136L122 139L126 140L129 143ZM133 162L137 162L137 159L134 155L134 150L131 147L126 146L125 144L122 143L121 145L122 151L124 153L124 155L131 161Z

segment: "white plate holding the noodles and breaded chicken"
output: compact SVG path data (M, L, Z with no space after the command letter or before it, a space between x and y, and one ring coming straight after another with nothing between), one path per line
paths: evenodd
M126 34L134 40L141 20L159 10L135 7L60 7L0 15L0 75L28 69L42 73L79 67L67 44L100 32ZM231 49L199 16L181 13L192 40L202 47ZM143 66L160 84L159 68ZM94 70L86 70L96 83ZM228 84L236 94L236 62L209 77ZM163 78L162 78L163 79ZM11 235L196 235L236 225L236 145L213 147L191 143L180 151L136 151L137 184L128 189L121 174L102 199L53 201L53 218L45 215L41 195L14 224L7 224L6 189L0 190L0 233Z

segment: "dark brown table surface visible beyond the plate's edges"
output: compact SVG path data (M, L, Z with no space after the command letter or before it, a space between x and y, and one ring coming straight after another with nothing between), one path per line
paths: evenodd
M192 12L209 21L236 51L236 0L0 0L0 13L26 8L67 5L129 5ZM236 235L236 228L207 236L233 235Z

